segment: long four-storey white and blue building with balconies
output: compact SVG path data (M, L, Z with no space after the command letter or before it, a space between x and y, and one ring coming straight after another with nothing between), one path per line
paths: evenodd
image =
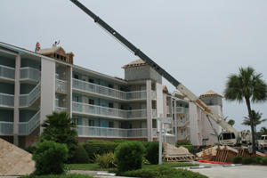
M190 139L201 144L208 137L201 131L206 123L198 122L200 109L181 94L168 93L162 77L142 60L125 65L122 79L76 66L73 58L61 47L34 53L0 43L1 138L22 148L33 144L42 132L40 123L53 110L76 118L79 142L155 141L158 117L174 118L166 126L168 142Z

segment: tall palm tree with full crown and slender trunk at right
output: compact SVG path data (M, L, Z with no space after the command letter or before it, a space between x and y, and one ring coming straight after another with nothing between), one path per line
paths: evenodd
M253 153L255 154L255 130L251 111L251 102L267 101L267 84L262 79L262 73L255 73L251 67L239 68L239 74L231 74L226 82L224 97L228 101L247 104L248 117L251 125Z

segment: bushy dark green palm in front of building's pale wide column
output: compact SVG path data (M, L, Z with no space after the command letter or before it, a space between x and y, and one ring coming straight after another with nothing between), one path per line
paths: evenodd
M69 149L68 157L72 158L77 148L77 131L74 118L69 117L67 112L53 112L52 115L47 115L47 119L41 125L44 127L44 132L39 137L42 142L44 140L65 143Z

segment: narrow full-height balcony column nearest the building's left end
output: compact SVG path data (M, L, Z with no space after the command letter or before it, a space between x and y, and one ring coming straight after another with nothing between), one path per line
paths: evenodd
M20 55L16 57L15 88L14 88L14 117L13 117L13 144L19 146L19 121L20 121Z

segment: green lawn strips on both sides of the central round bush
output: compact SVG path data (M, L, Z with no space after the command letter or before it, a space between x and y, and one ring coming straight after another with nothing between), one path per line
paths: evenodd
M166 167L179 167L179 166L198 166L198 164L193 165L189 162L163 162L162 166ZM66 165L70 170L91 170L91 171L109 171L108 168L100 168L96 163L90 164L68 164ZM158 165L144 165L142 168L157 168Z

